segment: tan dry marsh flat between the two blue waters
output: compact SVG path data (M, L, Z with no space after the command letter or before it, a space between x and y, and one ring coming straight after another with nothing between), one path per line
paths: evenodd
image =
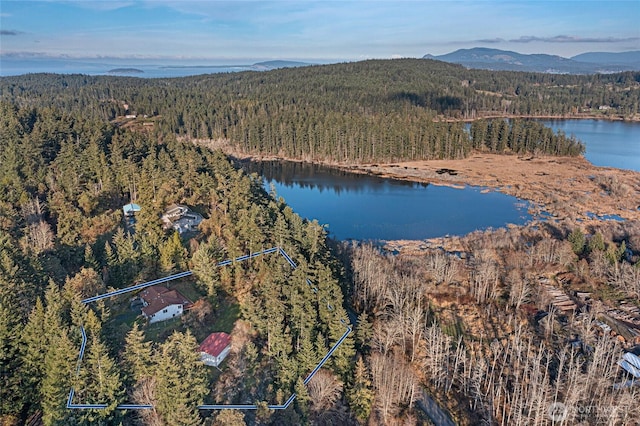
M224 140L191 139L191 142L210 149L220 149L238 161L292 161L386 179L453 188L488 188L528 201L534 217L545 215L548 216L545 220L564 222L583 230L608 222L594 215L640 221L640 172L595 166L583 156L518 156L474 151L469 157L459 160L356 164L246 153ZM435 245L441 245L443 237L391 240L385 243L391 250L402 247L411 252L419 247L432 248L435 241L440 242Z

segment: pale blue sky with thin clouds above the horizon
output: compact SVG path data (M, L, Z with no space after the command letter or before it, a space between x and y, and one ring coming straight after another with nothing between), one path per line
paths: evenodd
M640 1L0 0L0 54L360 60L640 49Z

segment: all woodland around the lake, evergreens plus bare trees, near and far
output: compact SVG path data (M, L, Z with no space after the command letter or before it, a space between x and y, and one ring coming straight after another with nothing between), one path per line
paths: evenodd
M635 336L598 324L640 316L636 222L538 222L459 237L455 252L395 256L327 239L200 142L345 163L577 156L574 137L526 117L633 119L639 106L640 73L412 59L1 78L0 424L417 425L435 410L463 425L543 425L557 401L634 424L639 388L617 362ZM468 131L462 120L473 120ZM129 203L140 206L133 224ZM163 226L174 204L202 216L198 232ZM298 267L279 255L216 267L274 246ZM82 303L185 270L193 275L170 284L194 302L179 318L149 324L134 295ZM575 294L588 294L589 309L556 309L554 288L576 309ZM303 383L347 325L354 332ZM197 351L217 331L232 339L219 369ZM71 388L75 403L107 407L67 409ZM288 409L269 409L293 393ZM258 409L197 410L203 403Z

